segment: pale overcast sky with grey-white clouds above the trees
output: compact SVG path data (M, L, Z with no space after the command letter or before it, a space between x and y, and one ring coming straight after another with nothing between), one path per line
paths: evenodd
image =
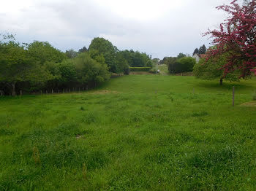
M231 0L5 0L0 33L20 42L48 41L59 50L89 47L94 37L119 50L133 49L154 58L190 55L206 44L201 34L225 20L215 9Z

